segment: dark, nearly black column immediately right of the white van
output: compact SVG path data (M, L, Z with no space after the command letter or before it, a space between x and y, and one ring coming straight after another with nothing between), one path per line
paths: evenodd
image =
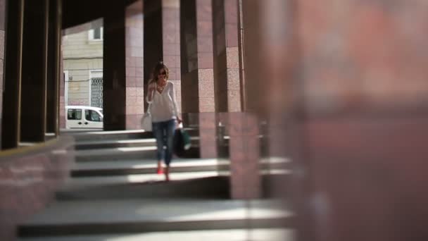
M118 11L120 10L120 11ZM126 129L125 8L111 2L104 18L103 114L104 130Z

